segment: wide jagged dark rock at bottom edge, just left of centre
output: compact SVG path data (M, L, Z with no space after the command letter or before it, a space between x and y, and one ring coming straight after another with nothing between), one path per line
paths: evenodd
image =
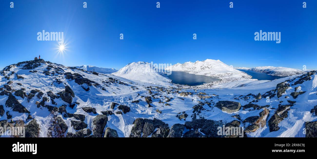
M165 122L160 121L156 118L154 118L153 120L137 118L133 122L133 124L134 126L132 127L132 130L130 132L130 136L129 136L130 138L140 138L140 137L146 138L152 133L154 133L155 128L159 128L160 126L165 126L165 127L168 126L167 124L165 124ZM162 127L162 130L163 130L163 127ZM164 134L163 133L161 134L161 132L156 131L155 133L156 133L156 136L159 136L159 135L164 136Z

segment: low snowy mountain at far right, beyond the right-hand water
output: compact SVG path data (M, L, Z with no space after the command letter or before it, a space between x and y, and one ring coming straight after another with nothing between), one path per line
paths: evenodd
M255 72L262 72L274 76L291 76L294 74L305 74L306 72L295 69L295 68L285 68L285 67L273 67L273 66L263 66L263 67L254 67L248 70Z

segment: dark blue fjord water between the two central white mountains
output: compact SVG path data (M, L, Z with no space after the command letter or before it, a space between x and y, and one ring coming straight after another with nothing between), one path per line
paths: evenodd
M181 85L202 85L204 83L214 82L220 79L212 78L210 76L203 76L197 74L189 74L182 71L172 71L170 75L166 75L169 79L172 80L172 83L181 84Z

